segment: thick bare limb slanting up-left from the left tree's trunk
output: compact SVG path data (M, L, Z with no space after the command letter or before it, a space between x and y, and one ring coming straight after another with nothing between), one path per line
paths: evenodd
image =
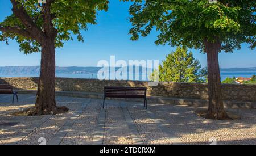
M16 0L10 0L13 4L13 13L14 15L19 18L22 24L26 27L26 31L30 32L30 36L34 36L35 40L42 41L44 37L43 31L36 26L30 16L27 14L27 11L24 9L23 5Z

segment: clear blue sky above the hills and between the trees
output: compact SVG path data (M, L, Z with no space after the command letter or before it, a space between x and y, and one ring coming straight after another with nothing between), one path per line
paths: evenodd
M169 45L156 46L154 41L158 32L152 31L148 37L131 41L128 35L131 24L127 18L130 2L110 0L109 11L99 12L97 25L89 26L82 32L85 42L76 40L65 43L64 48L56 49L57 66L97 66L99 60L163 60L166 54L176 47ZM10 1L1 1L0 20L11 14ZM207 57L198 50L191 49L202 66L207 65ZM253 67L256 66L256 52L243 44L241 50L234 53L220 54L220 67ZM40 65L40 53L27 54L19 52L15 41L9 45L0 43L0 66Z

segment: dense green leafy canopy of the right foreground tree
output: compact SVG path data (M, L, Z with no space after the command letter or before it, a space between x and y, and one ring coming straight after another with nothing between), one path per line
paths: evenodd
M204 50L204 40L221 41L221 50L255 48L255 4L251 0L135 0L130 7L132 40L147 36L155 27L156 44L183 45Z

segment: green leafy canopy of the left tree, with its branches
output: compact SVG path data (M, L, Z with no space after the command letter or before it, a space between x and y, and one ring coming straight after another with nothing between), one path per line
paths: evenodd
M38 0L11 2L13 14L0 22L0 41L8 44L8 39L14 39L19 43L20 51L26 54L40 52L43 33L49 29L46 22L55 28L56 47L63 47L63 41L73 40L72 35L84 41L81 31L86 30L88 24L96 24L97 11L107 11L109 3L107 0L46 0L47 4L40 4ZM49 20L46 20L47 16L50 16ZM33 32L40 33L35 35Z

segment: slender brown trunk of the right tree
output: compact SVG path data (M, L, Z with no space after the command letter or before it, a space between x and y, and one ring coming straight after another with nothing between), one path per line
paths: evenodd
M218 53L220 52L221 43L218 40L214 43L205 40L204 45L208 63L209 108L207 118L217 120L228 119L222 100L220 66L218 64Z

